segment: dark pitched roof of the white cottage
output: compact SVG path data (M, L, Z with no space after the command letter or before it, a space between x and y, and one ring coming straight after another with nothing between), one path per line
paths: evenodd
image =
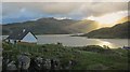
M21 30L21 31L15 31L15 32L12 32L6 39L22 40L28 32L31 32L31 31L25 30L25 29ZM37 37L34 33L32 33L32 35L37 39Z

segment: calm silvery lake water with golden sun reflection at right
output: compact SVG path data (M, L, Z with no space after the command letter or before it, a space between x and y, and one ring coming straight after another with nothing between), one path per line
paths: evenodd
M37 35L38 44L62 43L64 46L107 45L110 48L128 46L128 39L88 39L86 37L69 37L70 34ZM5 37L3 37L5 39Z

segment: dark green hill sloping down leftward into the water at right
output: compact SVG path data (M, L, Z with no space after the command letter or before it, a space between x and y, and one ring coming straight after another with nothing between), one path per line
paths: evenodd
M130 26L130 21L118 24L110 28L101 28L98 30L93 30L89 33L82 34L82 37L98 39L127 39L130 38L128 33L128 31L130 31L128 26Z

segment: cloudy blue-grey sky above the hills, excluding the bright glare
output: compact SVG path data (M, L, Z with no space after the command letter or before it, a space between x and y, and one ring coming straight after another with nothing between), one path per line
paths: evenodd
M110 13L126 14L127 2L3 2L2 21L17 23L41 17L83 19Z

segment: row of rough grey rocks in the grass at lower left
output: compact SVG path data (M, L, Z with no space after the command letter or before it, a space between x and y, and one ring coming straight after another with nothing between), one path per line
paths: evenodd
M31 57L25 54L18 55L17 60L3 59L4 71L27 71L27 72L37 72L41 70L65 70L70 69L74 66L74 61L69 60L67 66L63 66L61 59L50 59L43 57Z

